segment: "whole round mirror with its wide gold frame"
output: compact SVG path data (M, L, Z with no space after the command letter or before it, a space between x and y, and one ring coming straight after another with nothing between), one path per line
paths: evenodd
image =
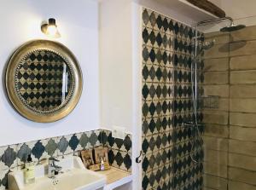
M61 43L36 40L11 56L6 70L9 100L32 121L49 123L67 116L79 102L82 72Z

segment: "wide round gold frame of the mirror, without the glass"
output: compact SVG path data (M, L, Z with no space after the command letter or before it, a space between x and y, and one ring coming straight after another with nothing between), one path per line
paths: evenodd
M40 112L27 107L15 89L17 88L15 76L18 66L26 56L37 50L45 50L61 56L65 63L67 63L73 79L67 100L60 107L56 107L48 112ZM38 123L50 123L66 117L76 107L82 94L83 77L78 60L76 60L73 53L66 46L49 40L33 40L21 45L11 56L6 69L5 85L9 101L11 101L20 115Z

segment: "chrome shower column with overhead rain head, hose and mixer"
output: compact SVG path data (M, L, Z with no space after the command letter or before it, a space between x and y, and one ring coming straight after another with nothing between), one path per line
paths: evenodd
M210 41L204 42L204 37L202 37L201 35L198 35L198 27L200 26L207 26L207 25L211 25L214 24L216 22L219 21L225 21L228 20L230 21L230 25L229 26L224 26L222 28L220 28L219 32L236 32L239 31L243 28L245 28L245 25L235 25L234 20L230 17L223 17L223 18L217 18L217 19L212 19L212 20L203 20L201 22L196 23L195 25L195 37L193 37L195 39L195 43L191 43L192 45L192 49L194 49L194 56L193 60L192 60L192 64L191 64L191 89L192 89L192 101L193 101L193 118L191 121L185 122L184 125L185 126L189 126L189 127L193 127L195 130L195 135L197 136L195 141L191 141L192 147L191 147L191 151L190 151L190 158L192 159L193 162L195 163L199 163L202 162L202 160L197 160L196 158L194 158L193 156L193 150L195 148L195 143L196 141L198 141L199 139L199 143L202 145L203 141L201 139L201 131L200 131L200 127L203 128L203 124L199 124L197 121L197 117L196 117L196 113L198 111L198 105L201 104L201 107L205 107L204 104L204 97L201 96L198 93L198 81L200 80L200 77L203 76L203 71L198 71L198 62L200 62L202 60L202 52L207 51L208 49L211 49L216 40L213 38ZM198 74L199 73L199 74ZM207 108L217 108L218 107L218 102L212 102L213 105L211 105L211 103L208 103L207 101L218 101L218 97L210 97L210 98L205 98L205 102L206 102L206 107ZM203 130L203 129L201 129Z

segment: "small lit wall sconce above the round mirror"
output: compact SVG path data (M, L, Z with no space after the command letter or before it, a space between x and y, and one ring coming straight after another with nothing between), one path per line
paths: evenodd
M56 20L54 18L50 18L48 23L46 22L42 24L41 31L49 37L61 37L61 34L56 26Z

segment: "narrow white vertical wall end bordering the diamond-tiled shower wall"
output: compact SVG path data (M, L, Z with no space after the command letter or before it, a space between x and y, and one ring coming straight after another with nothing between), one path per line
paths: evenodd
M135 189L141 189L142 184L142 163L137 164L136 158L140 155L143 144L142 141L142 118L143 118L143 101L142 101L142 89L143 89L143 8L137 3L132 3L132 173L133 180L132 186ZM137 98L139 97L139 98Z

